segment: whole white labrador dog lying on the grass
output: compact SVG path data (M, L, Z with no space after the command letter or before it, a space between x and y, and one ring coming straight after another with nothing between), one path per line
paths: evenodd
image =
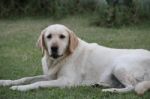
M0 80L1 86L27 91L37 88L94 85L110 87L103 92L143 94L150 89L150 52L113 49L87 43L64 25L50 25L41 32L43 75Z

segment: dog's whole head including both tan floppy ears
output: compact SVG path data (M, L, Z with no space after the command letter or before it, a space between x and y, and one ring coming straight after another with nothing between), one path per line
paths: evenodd
M78 38L64 25L54 24L41 32L37 44L43 54L47 53L53 59L57 59L66 53L73 53L78 46Z

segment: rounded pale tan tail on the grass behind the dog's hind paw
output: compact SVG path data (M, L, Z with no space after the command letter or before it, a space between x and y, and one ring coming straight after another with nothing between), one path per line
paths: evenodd
M135 86L135 92L138 95L143 95L144 92L150 89L150 81L142 81Z

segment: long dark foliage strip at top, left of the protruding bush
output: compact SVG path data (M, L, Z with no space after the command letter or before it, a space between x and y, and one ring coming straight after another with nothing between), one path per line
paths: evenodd
M98 0L1 0L0 17L53 16L90 12Z

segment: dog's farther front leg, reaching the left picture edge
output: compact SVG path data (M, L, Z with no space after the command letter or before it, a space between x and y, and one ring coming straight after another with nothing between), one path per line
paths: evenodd
M42 80L50 80L51 77L49 75L39 75L33 77L24 77L18 80L0 80L0 86L11 86L11 85L20 85L20 84L28 84Z

